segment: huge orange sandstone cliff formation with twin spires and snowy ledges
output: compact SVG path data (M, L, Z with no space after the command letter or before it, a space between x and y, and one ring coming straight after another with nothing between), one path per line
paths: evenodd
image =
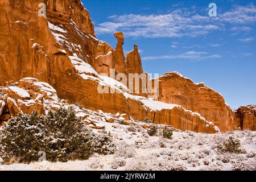
M114 75L143 73L138 47L135 46L125 58L122 32L114 34L117 38L115 49L98 40L89 13L80 1L44 1L46 17L38 16L41 2L0 2L0 85L5 86L0 90L4 95L0 100L6 104L1 118L19 112L31 113L34 109L44 113L48 107L60 107L59 100L64 99L69 104L79 104L90 110L123 113L125 119L148 117L154 123L167 123L181 130L214 133L218 131L216 125L222 131L231 130L232 112L229 113L229 107L216 92L203 91L207 90L204 85L174 80L178 87L160 90L159 101L181 106L160 110L152 109L159 102L151 103L153 106L145 105L142 100L146 98L127 97L130 91L125 85L115 80L109 83L111 79L100 73L109 76L111 69L115 69ZM163 79L162 83L165 82ZM110 92L100 93L99 85ZM189 92L182 85L187 85ZM23 95L17 95L15 87L25 90ZM176 93L174 98L177 100L169 97L172 92ZM204 99L204 105L200 105L200 97ZM199 112L203 117L189 110ZM89 125L93 125L92 121L88 122ZM93 126L101 127L95 123Z

